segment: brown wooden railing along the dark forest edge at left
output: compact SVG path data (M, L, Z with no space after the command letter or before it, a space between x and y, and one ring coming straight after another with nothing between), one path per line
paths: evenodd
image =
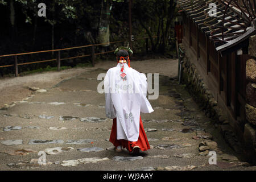
M157 36L153 36L152 38L156 38L156 37ZM147 37L137 38L137 39L135 39L135 41L136 40L142 40L142 39L146 39L146 52L147 52L148 51L148 38ZM27 65L27 64L35 64L35 63L46 63L46 62L51 62L51 61L57 61L57 70L60 71L60 65L61 65L62 60L76 59L76 58L89 57L89 56L91 56L91 63L94 66L96 55L101 55L101 54L110 53L110 52L115 51L115 50L112 50L112 51L95 53L95 47L96 46L102 46L104 44L122 43L122 42L126 42L126 41L127 40L119 40L119 41L101 43L101 44L89 44L89 45L86 45L86 46L77 46L77 47L68 47L68 48L62 48L62 49L52 49L52 50L46 50L46 51L24 52L24 53L13 53L13 54L9 54L9 55L1 55L0 59L3 58L3 57L13 57L14 58L14 64L0 65L0 68L14 67L15 76L17 77L19 75L18 74L18 66L19 65ZM61 58L61 56L60 56L61 51L67 51L67 50L71 50L71 49L80 49L80 48L89 48L89 47L91 47L91 53L87 54L87 55L80 55L80 56L73 56L73 57L63 57L63 58ZM31 62L27 62L27 63L18 63L18 56L32 55L32 54L36 54L36 53L47 53L47 52L57 52L56 58L55 59L48 59L48 60L41 60L41 61L31 61Z

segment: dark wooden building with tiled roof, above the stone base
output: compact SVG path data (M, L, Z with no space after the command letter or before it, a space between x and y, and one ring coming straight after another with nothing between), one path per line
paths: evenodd
M185 52L241 138L249 38L256 33L255 0L179 0L177 6Z

